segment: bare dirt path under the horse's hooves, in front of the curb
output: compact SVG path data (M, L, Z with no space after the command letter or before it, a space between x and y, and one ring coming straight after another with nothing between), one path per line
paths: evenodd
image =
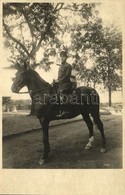
M24 117L24 116L23 116ZM14 117L16 120L16 117ZM119 169L122 168L122 116L101 116L107 138L107 153L100 153L101 136L95 128L95 143L90 151L84 150L88 141L88 129L84 121L50 127L49 161L40 166L42 153L41 129L21 135L4 137L3 168L14 169ZM19 119L18 119L19 120ZM32 124L28 121L28 127ZM4 128L6 127L4 122ZM16 129L26 124L16 123ZM39 122L38 122L39 124ZM11 128L14 127L11 123ZM5 130L3 128L3 131Z

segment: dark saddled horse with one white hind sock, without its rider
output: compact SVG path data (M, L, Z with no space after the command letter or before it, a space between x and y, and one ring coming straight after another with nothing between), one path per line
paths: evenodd
M24 86L28 88L28 93L36 105L37 117L42 127L43 154L39 160L40 165L43 165L49 160L49 123L52 120L70 119L82 115L89 130L89 141L85 149L89 150L92 148L94 142L94 122L101 133L101 152L105 153L107 151L106 137L99 113L100 98L94 88L81 86L76 88L68 96L62 94L60 98L57 98L54 87L41 78L41 76L27 64L23 64L15 74L11 90L13 93L20 93L20 90ZM62 96L65 97L62 98ZM58 99L60 99L59 102L57 101ZM68 103L66 102L67 99L69 99ZM68 114L65 116L59 115L59 110L63 110L63 108L67 108L68 110Z

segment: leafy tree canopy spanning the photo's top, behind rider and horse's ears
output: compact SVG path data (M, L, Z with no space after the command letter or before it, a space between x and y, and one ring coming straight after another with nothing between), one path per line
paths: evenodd
M29 58L34 68L40 66L48 71L53 63L51 57L56 58L62 46L67 46L80 80L119 89L122 36L114 25L103 24L99 6L98 3L4 3L5 46L11 50L12 66L18 68L22 60ZM41 48L43 55L36 63ZM87 66L89 60L91 67Z

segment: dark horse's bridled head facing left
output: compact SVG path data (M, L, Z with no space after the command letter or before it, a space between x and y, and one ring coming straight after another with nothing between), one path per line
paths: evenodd
M24 63L17 71L14 82L12 84L11 90L13 93L19 93L19 91L27 85L27 73L29 71L29 67L26 63Z

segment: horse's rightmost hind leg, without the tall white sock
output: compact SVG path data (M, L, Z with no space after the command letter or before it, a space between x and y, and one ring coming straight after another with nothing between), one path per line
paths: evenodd
M99 114L95 115L95 114L92 114L93 116L93 119L94 119L94 122L95 124L97 125L100 133L101 133L101 137L102 137L102 148L101 148L101 152L104 153L107 151L106 149L106 138L105 138L105 134L104 134L104 128L103 128L103 123L100 119L100 116Z

